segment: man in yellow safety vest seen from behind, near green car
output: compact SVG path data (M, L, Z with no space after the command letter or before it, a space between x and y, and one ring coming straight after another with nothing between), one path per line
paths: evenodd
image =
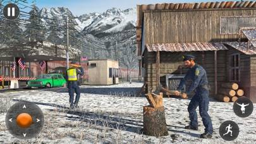
M68 81L68 93L70 94L70 108L73 109L78 106L78 101L80 99L80 88L78 84L78 75L83 75L83 68L74 67L75 62L71 62L73 66L66 71L66 80ZM74 92L76 93L76 99L74 103Z

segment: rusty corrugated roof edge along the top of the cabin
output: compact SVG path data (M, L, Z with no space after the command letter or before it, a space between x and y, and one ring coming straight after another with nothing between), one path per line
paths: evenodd
M256 8L256 1L222 1L207 3L162 3L142 4L143 11L147 10L181 10L181 9L220 9L220 8Z

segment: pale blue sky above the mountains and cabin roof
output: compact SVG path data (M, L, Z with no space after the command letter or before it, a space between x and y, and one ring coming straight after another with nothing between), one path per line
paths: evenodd
M31 4L32 0L27 0ZM214 1L214 0L210 0ZM222 0L225 1L225 0ZM230 1L230 0L228 0ZM102 13L110 8L136 8L137 4L155 4L155 3L200 3L209 2L209 0L36 0L39 8L66 7L74 15L83 15L85 13Z

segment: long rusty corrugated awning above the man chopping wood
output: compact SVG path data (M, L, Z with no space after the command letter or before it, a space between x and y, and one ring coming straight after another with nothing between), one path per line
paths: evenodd
M223 44L218 42L196 42L196 43L169 43L146 45L147 51L166 51L166 52L186 52L186 51L219 51L228 50Z

